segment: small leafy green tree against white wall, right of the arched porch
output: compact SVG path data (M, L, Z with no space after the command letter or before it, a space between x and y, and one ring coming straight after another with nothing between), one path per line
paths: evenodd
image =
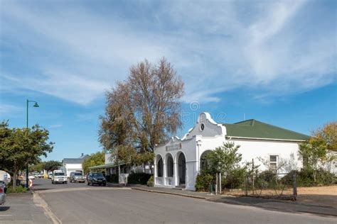
M235 145L234 142L226 142L209 152L206 159L209 162L210 172L228 174L233 169L239 169L242 160L242 155L237 152L239 148L240 145Z

